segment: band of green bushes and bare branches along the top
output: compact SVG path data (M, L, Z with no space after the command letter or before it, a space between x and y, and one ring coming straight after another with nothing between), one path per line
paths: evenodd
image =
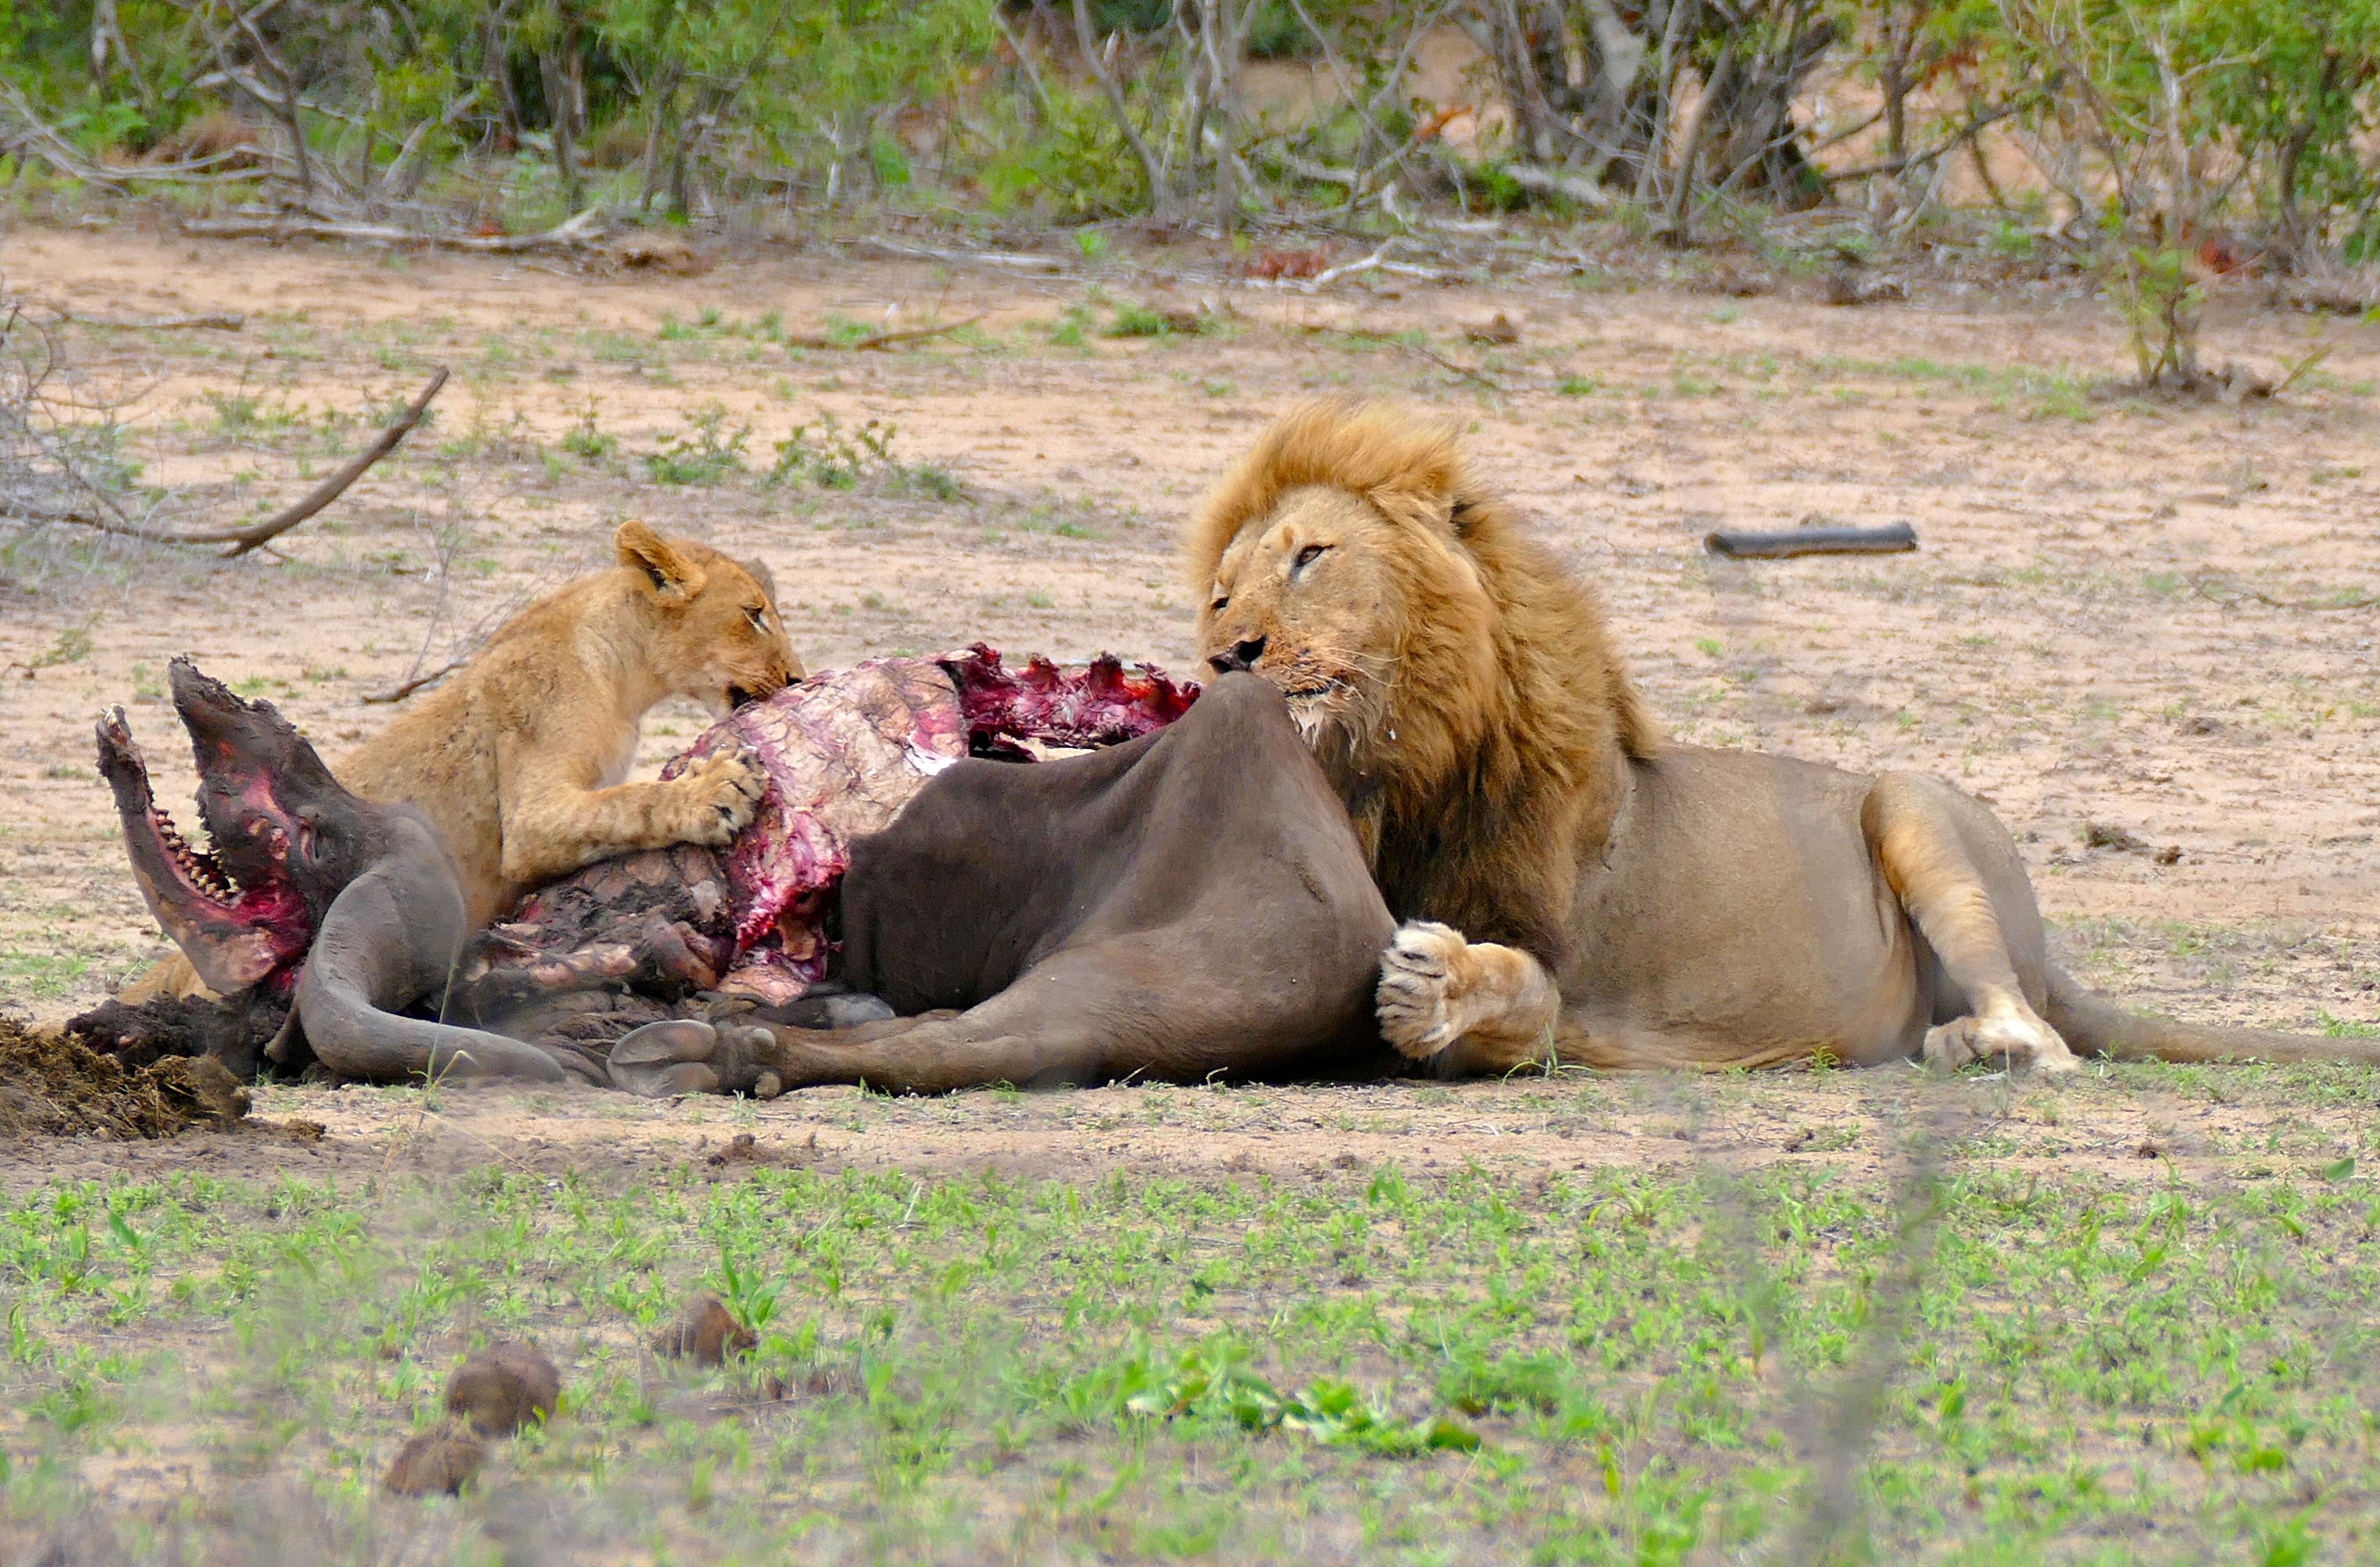
M1471 67L1423 98L1423 57ZM0 0L0 179L1687 241L1828 200L1906 236L1966 167L2018 248L2323 269L2380 252L2375 67L2380 0Z

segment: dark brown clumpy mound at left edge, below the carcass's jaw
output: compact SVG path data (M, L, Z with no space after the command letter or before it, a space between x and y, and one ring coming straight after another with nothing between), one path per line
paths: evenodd
M231 1126L248 1091L212 1055L169 1055L126 1072L71 1038L43 1038L0 1017L0 1131L14 1136L169 1138Z

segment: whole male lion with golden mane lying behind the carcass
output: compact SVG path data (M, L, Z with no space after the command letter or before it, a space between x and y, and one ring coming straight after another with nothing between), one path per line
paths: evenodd
M1664 743L1592 591L1438 422L1290 412L1188 555L1207 662L1288 695L1404 922L1380 1031L1442 1072L2380 1060L2090 995L2006 829L1940 779Z

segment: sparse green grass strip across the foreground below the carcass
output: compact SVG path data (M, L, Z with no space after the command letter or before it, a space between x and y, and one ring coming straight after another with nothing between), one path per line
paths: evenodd
M1944 1153L33 1184L0 1203L0 1543L71 1519L209 1560L300 1519L328 1560L509 1560L536 1517L540 1560L2361 1555L2354 1160L2109 1184ZM690 1288L759 1346L654 1360ZM562 1412L459 1503L376 1496L497 1336L562 1365ZM190 1465L186 1555L95 1498L119 1453Z

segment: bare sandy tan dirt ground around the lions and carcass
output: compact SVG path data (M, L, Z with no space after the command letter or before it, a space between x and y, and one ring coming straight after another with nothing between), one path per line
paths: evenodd
M1266 419L1352 388L1471 424L1483 464L1602 586L1678 736L1959 781L2018 836L2066 957L2132 1005L2292 1029L2380 1017L2380 610L2218 603L2242 586L2290 603L2380 588L2380 331L2273 314L2242 286L2216 300L2211 360L2275 369L2318 336L2340 345L2278 402L2171 405L2092 391L2128 369L2128 348L2106 305L2071 291L1916 276L1909 302L1833 310L1818 286L1726 298L1585 260L1573 274L1490 255L1461 286L1376 274L1321 295L1226 271L1159 257L1038 274L788 245L664 279L188 241L133 221L7 236L7 286L76 314L250 312L243 333L71 333L90 383L133 395L131 452L148 479L190 488L193 522L257 514L326 472L336 457L307 445L326 412L350 417L352 450L431 364L457 376L436 426L278 555L105 550L60 567L52 548L38 572L0 574L0 1007L64 1017L164 950L93 776L90 719L126 703L159 798L188 800L157 700L176 653L269 695L336 753L390 712L362 695L445 662L509 605L597 564L619 519L647 517L766 560L814 669L973 638L1188 669L1202 583L1178 576L1178 524ZM1204 307L1216 331L1100 336L1123 300ZM1052 343L1078 307L1083 343ZM788 331L831 314L983 314L990 336L835 352L724 331L769 312ZM1495 314L1518 345L1464 338ZM1428 355L1476 374L1347 329L1423 331ZM654 481L640 457L714 402L724 431L750 424L754 469L795 424L816 436L823 410L845 429L895 424L895 455L945 467L964 495ZM616 441L607 460L562 450L588 410ZM1814 514L1906 519L1923 548L1702 552L1714 526ZM690 707L657 712L640 764L700 726ZM2144 848L2094 848L2094 824ZM2163 848L2178 860L2161 864ZM1747 1148L1783 1157L1814 1117L1852 1115L1828 1095L1887 1088L1825 1084L1837 1079L1747 1091L1768 1095L1747 1110ZM1571 1115L1559 1105L1523 1110L1530 1093L1573 1091L1261 1088L1214 1095L1247 1105L1233 1124L1135 1129L1147 1095L1209 1100L493 1095L421 1112L407 1091L271 1088L259 1117L328 1136L55 1143L7 1155L0 1179L157 1162L681 1162L719 1153L738 1124L769 1157L1052 1172L1173 1157L1288 1172L1319 1145L1364 1162L1673 1150L1628 1117L1587 1136L1557 1126ZM1395 1107L1383 1131L1342 1124L1376 1105ZM2075 1110L2090 1131L2049 1143L2111 1169L2173 1119L2121 1093ZM2316 1122L2294 1131L2354 1141Z

